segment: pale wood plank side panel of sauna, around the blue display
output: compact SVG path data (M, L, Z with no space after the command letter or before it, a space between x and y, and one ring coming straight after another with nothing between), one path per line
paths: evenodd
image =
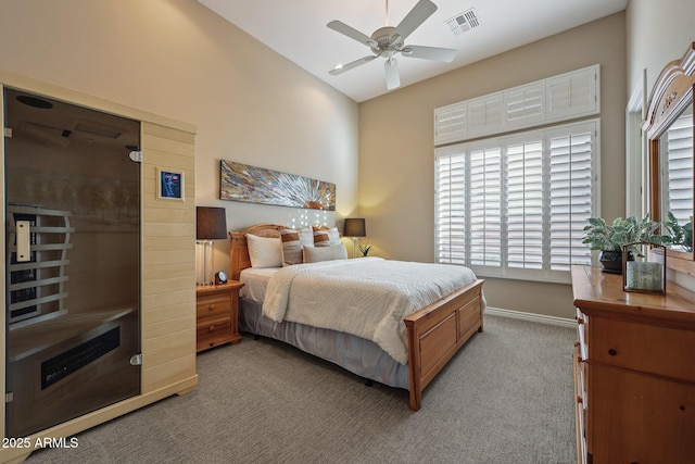
M195 139L142 123L142 393L195 373ZM157 168L184 173L184 201L156 196Z

